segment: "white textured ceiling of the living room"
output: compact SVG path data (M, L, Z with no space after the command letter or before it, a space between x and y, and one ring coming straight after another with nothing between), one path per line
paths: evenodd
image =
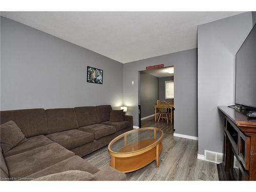
M122 63L197 48L197 26L241 12L1 12Z

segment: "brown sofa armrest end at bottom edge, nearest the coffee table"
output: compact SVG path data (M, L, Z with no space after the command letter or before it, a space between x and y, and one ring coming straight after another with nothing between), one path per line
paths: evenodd
M126 181L126 175L111 166L100 168L94 178L96 181Z

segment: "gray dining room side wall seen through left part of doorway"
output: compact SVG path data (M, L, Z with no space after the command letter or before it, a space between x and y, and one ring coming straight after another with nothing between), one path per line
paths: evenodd
M158 100L159 78L145 72L140 72L139 103L141 105L141 117L155 113L153 105Z

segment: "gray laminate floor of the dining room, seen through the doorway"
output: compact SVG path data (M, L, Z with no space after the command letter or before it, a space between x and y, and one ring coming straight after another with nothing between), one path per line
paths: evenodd
M160 119L159 122L155 122L155 117L150 117L144 120L141 120L141 127L154 126L163 130L164 133L173 134L174 133L174 122L167 124L167 121Z

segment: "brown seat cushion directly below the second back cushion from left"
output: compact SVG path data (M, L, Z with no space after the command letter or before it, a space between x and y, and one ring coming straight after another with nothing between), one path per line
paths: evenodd
M94 139L92 133L87 133L80 130L69 130L65 132L53 133L47 135L46 137L56 143L59 143L68 150L92 142Z

